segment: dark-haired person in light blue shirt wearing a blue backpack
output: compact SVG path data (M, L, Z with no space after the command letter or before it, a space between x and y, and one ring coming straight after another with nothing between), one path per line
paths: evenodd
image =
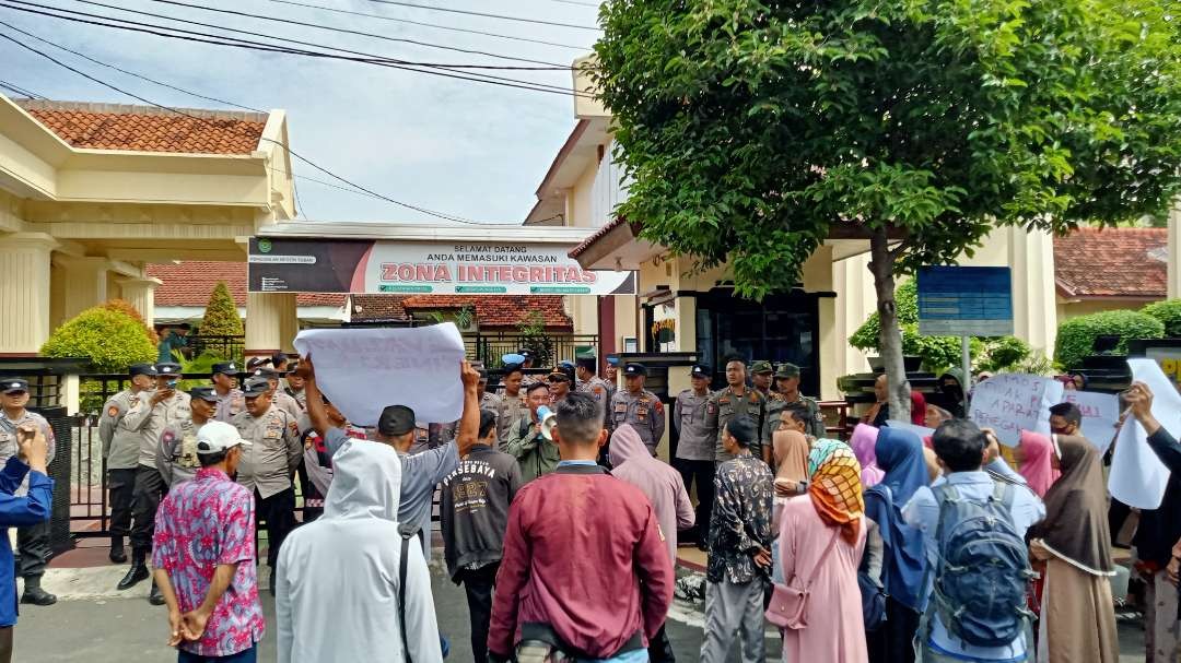
M1045 507L1025 486L994 481L984 471L988 458L990 470L1011 475L1004 461L996 458L994 442L976 424L964 419L946 421L935 431L933 442L944 477L932 487L915 491L902 510L907 524L924 532L927 564L931 565L927 577L935 580L920 590L920 596L927 599L922 618L926 625L919 631L922 661L1024 661L1032 643L1025 638L1029 630L1025 592L1030 572L1023 539L1029 526L1045 516ZM986 448L990 449L987 457ZM934 491L950 499L942 501ZM974 516L977 523L993 525L987 531L968 531L957 540L983 545L952 547L945 545L951 537L937 540L940 525L950 534L971 520L968 516ZM963 582L957 587L993 592L988 602L972 602L977 596L972 591L948 595L947 585L939 589L942 563L948 558L974 560L973 552L990 553L988 569L992 571L981 577L984 564L971 565L960 575ZM935 610L937 604L945 608ZM951 624L945 623L948 615L953 617ZM977 626L981 623L991 625L990 637L980 636ZM997 643L998 639L1006 642ZM981 644L986 641L988 644Z

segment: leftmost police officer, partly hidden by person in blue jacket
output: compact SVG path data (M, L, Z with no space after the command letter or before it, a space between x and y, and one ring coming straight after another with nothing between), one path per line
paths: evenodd
M46 464L53 462L57 452L57 438L53 428L44 416L25 409L28 403L28 382L20 378L6 378L0 381L0 464L17 455L17 429L25 424L33 424L45 434L50 445ZM24 494L25 486L21 484ZM25 593L21 603L33 605L53 605L58 597L41 589L41 576L50 562L50 523L38 523L17 527L17 572L25 578Z

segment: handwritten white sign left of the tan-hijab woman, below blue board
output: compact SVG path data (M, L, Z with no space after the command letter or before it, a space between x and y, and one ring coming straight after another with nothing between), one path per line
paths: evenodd
M1022 431L1050 432L1050 406L1062 400L1062 382L1001 373L980 382L972 392L968 419L992 428L1001 444L1016 447Z

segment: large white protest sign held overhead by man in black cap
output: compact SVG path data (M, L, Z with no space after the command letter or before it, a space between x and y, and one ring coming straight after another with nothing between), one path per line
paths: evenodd
M357 426L404 405L423 422L463 414L463 339L445 322L411 329L305 329L295 350L311 353L320 390Z

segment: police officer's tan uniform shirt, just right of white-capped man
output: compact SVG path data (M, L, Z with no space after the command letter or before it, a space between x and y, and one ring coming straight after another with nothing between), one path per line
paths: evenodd
M295 419L270 403L262 416L243 412L230 424L243 440L252 442L242 448L237 483L250 492L257 490L263 499L292 487L292 475L304 455Z

